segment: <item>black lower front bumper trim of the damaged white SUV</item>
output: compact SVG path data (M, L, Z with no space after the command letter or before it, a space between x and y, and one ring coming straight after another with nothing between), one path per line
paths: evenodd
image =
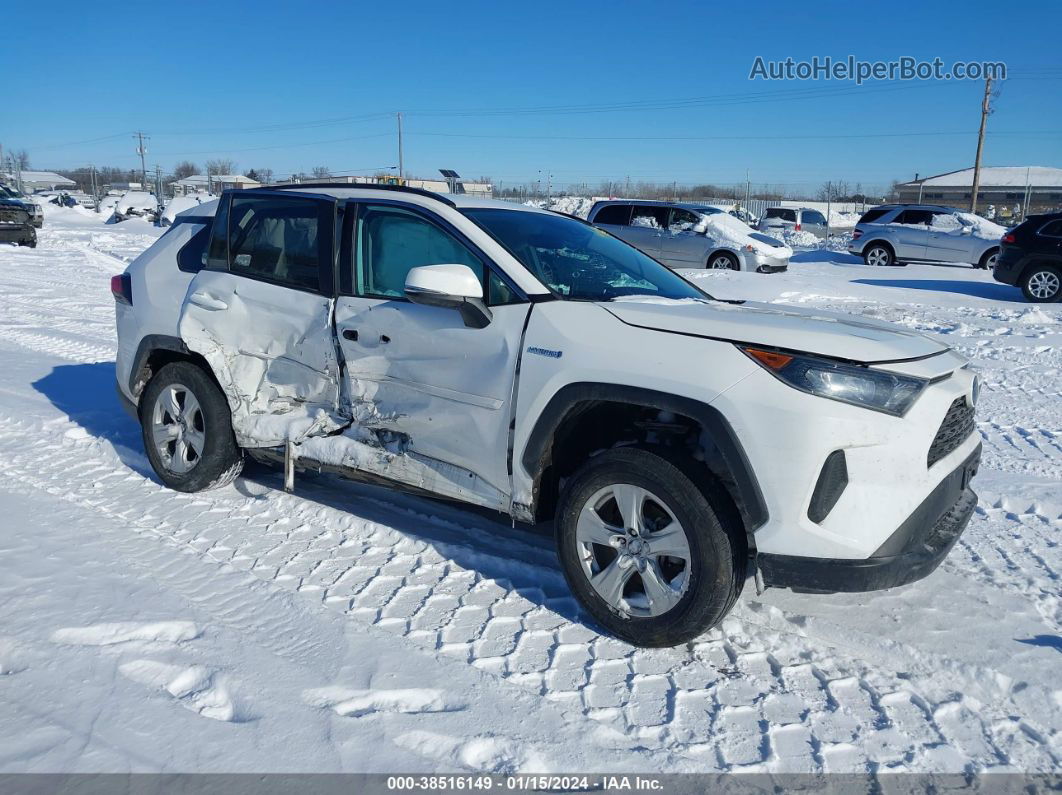
M962 535L977 506L970 480L980 459L978 445L870 557L765 553L756 557L764 584L815 593L860 592L895 588L929 575Z

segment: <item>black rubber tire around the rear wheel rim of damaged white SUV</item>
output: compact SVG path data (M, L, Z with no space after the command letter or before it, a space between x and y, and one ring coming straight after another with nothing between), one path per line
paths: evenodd
M199 403L195 422L204 437L202 455L187 471L170 468L152 438L153 413L164 390L181 385ZM218 384L202 367L191 362L167 364L148 382L140 396L140 429L144 451L152 468L167 486L176 491L205 491L232 483L243 468L243 451L233 433L233 415Z

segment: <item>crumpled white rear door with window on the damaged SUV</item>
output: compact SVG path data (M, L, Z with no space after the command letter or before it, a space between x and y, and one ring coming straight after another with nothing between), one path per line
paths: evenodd
M210 364L242 447L346 425L332 331L333 204L281 191L226 195L181 335Z

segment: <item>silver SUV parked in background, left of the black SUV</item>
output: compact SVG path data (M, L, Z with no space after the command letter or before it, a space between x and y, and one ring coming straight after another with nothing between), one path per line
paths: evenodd
M852 232L849 252L868 265L969 262L989 269L1006 229L954 207L895 204L872 207Z

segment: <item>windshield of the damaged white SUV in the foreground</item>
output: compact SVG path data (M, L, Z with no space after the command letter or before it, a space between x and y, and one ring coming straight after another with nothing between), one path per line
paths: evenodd
M468 209L464 214L558 297L710 297L637 248L581 221L526 210Z

